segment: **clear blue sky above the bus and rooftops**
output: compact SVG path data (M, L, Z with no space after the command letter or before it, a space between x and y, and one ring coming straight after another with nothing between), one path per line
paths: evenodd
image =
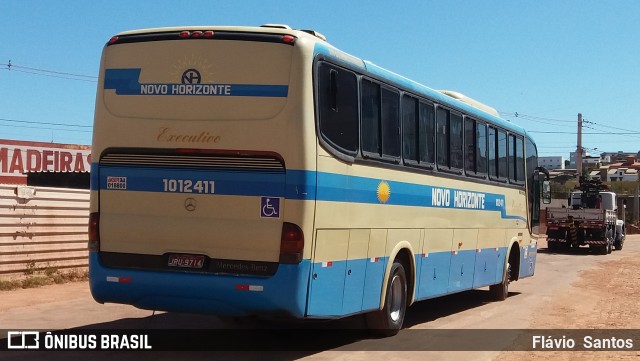
M639 19L636 0L0 0L0 139L90 144L118 32L280 23L496 108L541 156L575 151L578 113L588 153L638 152Z

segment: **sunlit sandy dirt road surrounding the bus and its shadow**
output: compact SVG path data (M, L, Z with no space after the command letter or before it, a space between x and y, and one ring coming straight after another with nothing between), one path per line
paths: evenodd
M639 351L627 352L500 352L456 351L435 352L429 349L428 332L433 330L511 329L513 344L529 345L530 336L523 330L564 329L640 329L640 236L629 236L622 251L607 256L595 255L588 249L571 254L547 253L546 244L539 245L536 275L515 283L504 302L488 302L487 290L475 290L420 302L407 313L405 329L388 339L345 338L334 346L313 352L279 352L267 354L274 360L600 360L640 357ZM329 323L327 327L357 327L358 318ZM125 305L100 305L93 301L86 282L53 285L38 289L0 292L0 329L67 329L88 328L180 328L250 329L251 325L229 326L212 316L163 314L138 310ZM322 326L324 327L324 326ZM268 330L265 334L268 334ZM427 332L427 333L425 333ZM486 333L486 332L485 332ZM295 334L292 333L291 336ZM442 334L439 334L442 335ZM620 332L624 336L625 331ZM339 336L338 336L339 337ZM431 340L433 343L433 340ZM445 340L447 342L449 340ZM468 341L468 340L467 340ZM637 341L636 350L640 347ZM42 356L43 354L40 354ZM56 353L68 359L70 354ZM89 356L88 354L84 354ZM113 357L112 353L102 354ZM141 359L128 355L121 359ZM147 355L147 354L145 354ZM147 355L148 356L148 355ZM145 359L147 356L142 357ZM153 353L150 359L174 359L175 353ZM177 359L184 359L185 357ZM0 359L39 359L35 355L7 353ZM93 356L91 356L94 358ZM232 352L220 354L190 353L189 359L218 358L237 360L264 359L264 353ZM84 359L84 358L82 358Z

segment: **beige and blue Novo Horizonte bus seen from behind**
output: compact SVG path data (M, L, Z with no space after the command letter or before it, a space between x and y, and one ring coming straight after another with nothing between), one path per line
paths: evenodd
M535 272L535 142L498 113L286 25L105 45L90 287L149 310L336 319Z

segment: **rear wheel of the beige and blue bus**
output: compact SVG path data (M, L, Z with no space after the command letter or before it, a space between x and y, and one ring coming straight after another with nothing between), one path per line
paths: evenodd
M402 328L406 311L407 276L402 264L394 262L389 273L384 307L366 314L367 327L374 334L393 336Z

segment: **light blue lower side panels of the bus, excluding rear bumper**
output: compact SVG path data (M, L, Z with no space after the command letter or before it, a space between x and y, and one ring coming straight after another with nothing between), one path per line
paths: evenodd
M415 255L416 301L500 283L506 251L502 247ZM378 309L387 262L388 257L313 263L307 314L339 317Z

